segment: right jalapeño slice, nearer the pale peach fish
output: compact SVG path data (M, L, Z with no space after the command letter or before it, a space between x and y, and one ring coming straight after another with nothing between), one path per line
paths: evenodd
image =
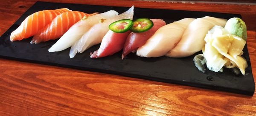
M148 18L138 18L133 22L131 27L131 32L145 32L154 26L152 20Z

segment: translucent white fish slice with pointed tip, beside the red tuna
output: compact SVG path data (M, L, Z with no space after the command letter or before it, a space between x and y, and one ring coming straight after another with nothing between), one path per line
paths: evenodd
M134 15L134 6L132 6L128 11L119 14L115 17L103 20L102 23L98 23L91 27L75 44L71 46L70 49L70 58L75 57L77 52L84 52L86 49L90 48L93 45L99 44L102 41L102 38L109 31L108 26L121 19L133 19Z

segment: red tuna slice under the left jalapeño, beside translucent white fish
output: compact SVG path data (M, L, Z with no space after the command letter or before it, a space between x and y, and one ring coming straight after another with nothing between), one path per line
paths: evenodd
M113 55L114 53L120 51L125 44L127 36L130 31L124 33L115 33L111 30L102 39L102 43L97 51L91 54L90 58L101 58L108 55Z

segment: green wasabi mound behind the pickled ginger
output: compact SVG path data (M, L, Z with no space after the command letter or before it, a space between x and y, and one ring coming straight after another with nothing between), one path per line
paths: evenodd
M230 34L239 36L245 41L247 40L246 25L243 20L237 17L230 18L227 20L225 29L227 29Z

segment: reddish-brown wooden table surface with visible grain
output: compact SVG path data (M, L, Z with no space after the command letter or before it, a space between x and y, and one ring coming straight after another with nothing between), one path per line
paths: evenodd
M36 0L0 0L0 35ZM241 14L256 78L256 6L129 0L43 0ZM254 79L256 81L256 79ZM256 94L244 96L119 75L0 58L1 116L256 116Z

